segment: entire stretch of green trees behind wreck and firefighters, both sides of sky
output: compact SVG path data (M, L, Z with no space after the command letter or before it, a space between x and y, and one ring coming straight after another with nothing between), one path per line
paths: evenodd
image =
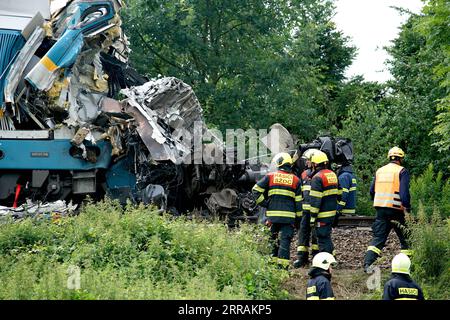
M303 142L352 139L358 212L390 147L406 152L413 206L450 212L450 1L408 15L388 66L393 80L345 77L357 48L336 28L331 0L129 0L132 65L196 92L210 127L282 123ZM382 22L380 22L382 23ZM367 63L371 63L367 61Z

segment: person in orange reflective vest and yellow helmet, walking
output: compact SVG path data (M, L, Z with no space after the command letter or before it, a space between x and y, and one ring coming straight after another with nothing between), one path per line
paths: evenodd
M391 148L388 152L390 162L377 170L370 187L377 214L372 225L373 238L364 258L364 270L368 273L370 266L381 256L381 250L392 228L400 240L401 252L412 254L405 224L405 214L411 211L411 205L409 173L401 166L404 157L402 149Z

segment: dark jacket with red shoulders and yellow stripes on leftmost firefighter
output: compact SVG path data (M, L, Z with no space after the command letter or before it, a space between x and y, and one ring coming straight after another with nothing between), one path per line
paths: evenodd
M293 173L267 174L253 187L256 203L268 200L266 216L275 223L293 223L302 215L301 180Z

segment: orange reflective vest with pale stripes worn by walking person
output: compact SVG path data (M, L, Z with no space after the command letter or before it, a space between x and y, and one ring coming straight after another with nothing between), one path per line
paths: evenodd
M377 170L374 207L403 210L400 198L400 172L402 170L402 166L392 162Z

